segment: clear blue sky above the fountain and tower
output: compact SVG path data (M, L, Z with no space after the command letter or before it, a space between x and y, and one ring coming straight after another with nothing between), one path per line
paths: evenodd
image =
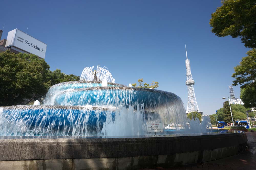
M47 44L51 70L80 75L106 66L116 83L140 78L180 96L187 108L185 44L200 111L222 107L233 67L249 50L240 38L211 33L218 1L3 1L3 38L18 28ZM234 87L237 97L240 87Z

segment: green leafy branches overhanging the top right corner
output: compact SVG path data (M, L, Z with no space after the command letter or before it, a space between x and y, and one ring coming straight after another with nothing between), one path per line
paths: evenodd
M211 14L212 33L218 37L240 37L244 46L256 48L255 0L222 0L222 6Z

